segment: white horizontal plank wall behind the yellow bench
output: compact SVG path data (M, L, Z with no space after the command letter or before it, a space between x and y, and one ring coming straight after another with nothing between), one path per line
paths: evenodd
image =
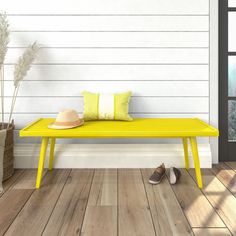
M209 121L208 0L12 0L1 10L11 26L8 106L14 63L29 43L42 46L19 92L16 136L33 119L63 108L82 114L83 90L131 90L135 117Z

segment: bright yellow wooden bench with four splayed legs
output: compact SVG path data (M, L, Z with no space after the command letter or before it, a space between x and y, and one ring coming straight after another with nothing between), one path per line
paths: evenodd
M90 121L68 130L49 129L54 119L41 118L20 131L20 137L42 137L36 188L40 187L45 154L50 139L49 170L53 168L56 138L181 138L185 168L189 169L188 139L190 140L198 187L202 177L197 148L197 136L218 136L219 131L196 118L138 118L125 121Z

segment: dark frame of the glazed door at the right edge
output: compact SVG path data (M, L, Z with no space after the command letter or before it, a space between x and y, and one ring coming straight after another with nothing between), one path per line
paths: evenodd
M219 160L236 160L236 142L228 141L228 101L236 97L228 96L228 57L236 52L228 51L228 13L236 7L228 7L228 0L219 0Z

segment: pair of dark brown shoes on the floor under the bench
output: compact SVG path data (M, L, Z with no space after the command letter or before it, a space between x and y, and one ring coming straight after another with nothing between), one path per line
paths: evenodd
M160 166L158 166L151 177L149 178L150 184L159 184L162 180L162 178L165 176L166 168L164 163L162 163ZM181 176L180 170L178 170L175 167L170 168L170 184L176 184Z

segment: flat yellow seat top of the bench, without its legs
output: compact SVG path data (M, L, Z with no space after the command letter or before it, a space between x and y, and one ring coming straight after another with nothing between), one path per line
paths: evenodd
M138 118L133 121L89 121L67 130L47 128L54 119L38 119L20 131L21 137L175 138L218 136L218 130L197 118Z

